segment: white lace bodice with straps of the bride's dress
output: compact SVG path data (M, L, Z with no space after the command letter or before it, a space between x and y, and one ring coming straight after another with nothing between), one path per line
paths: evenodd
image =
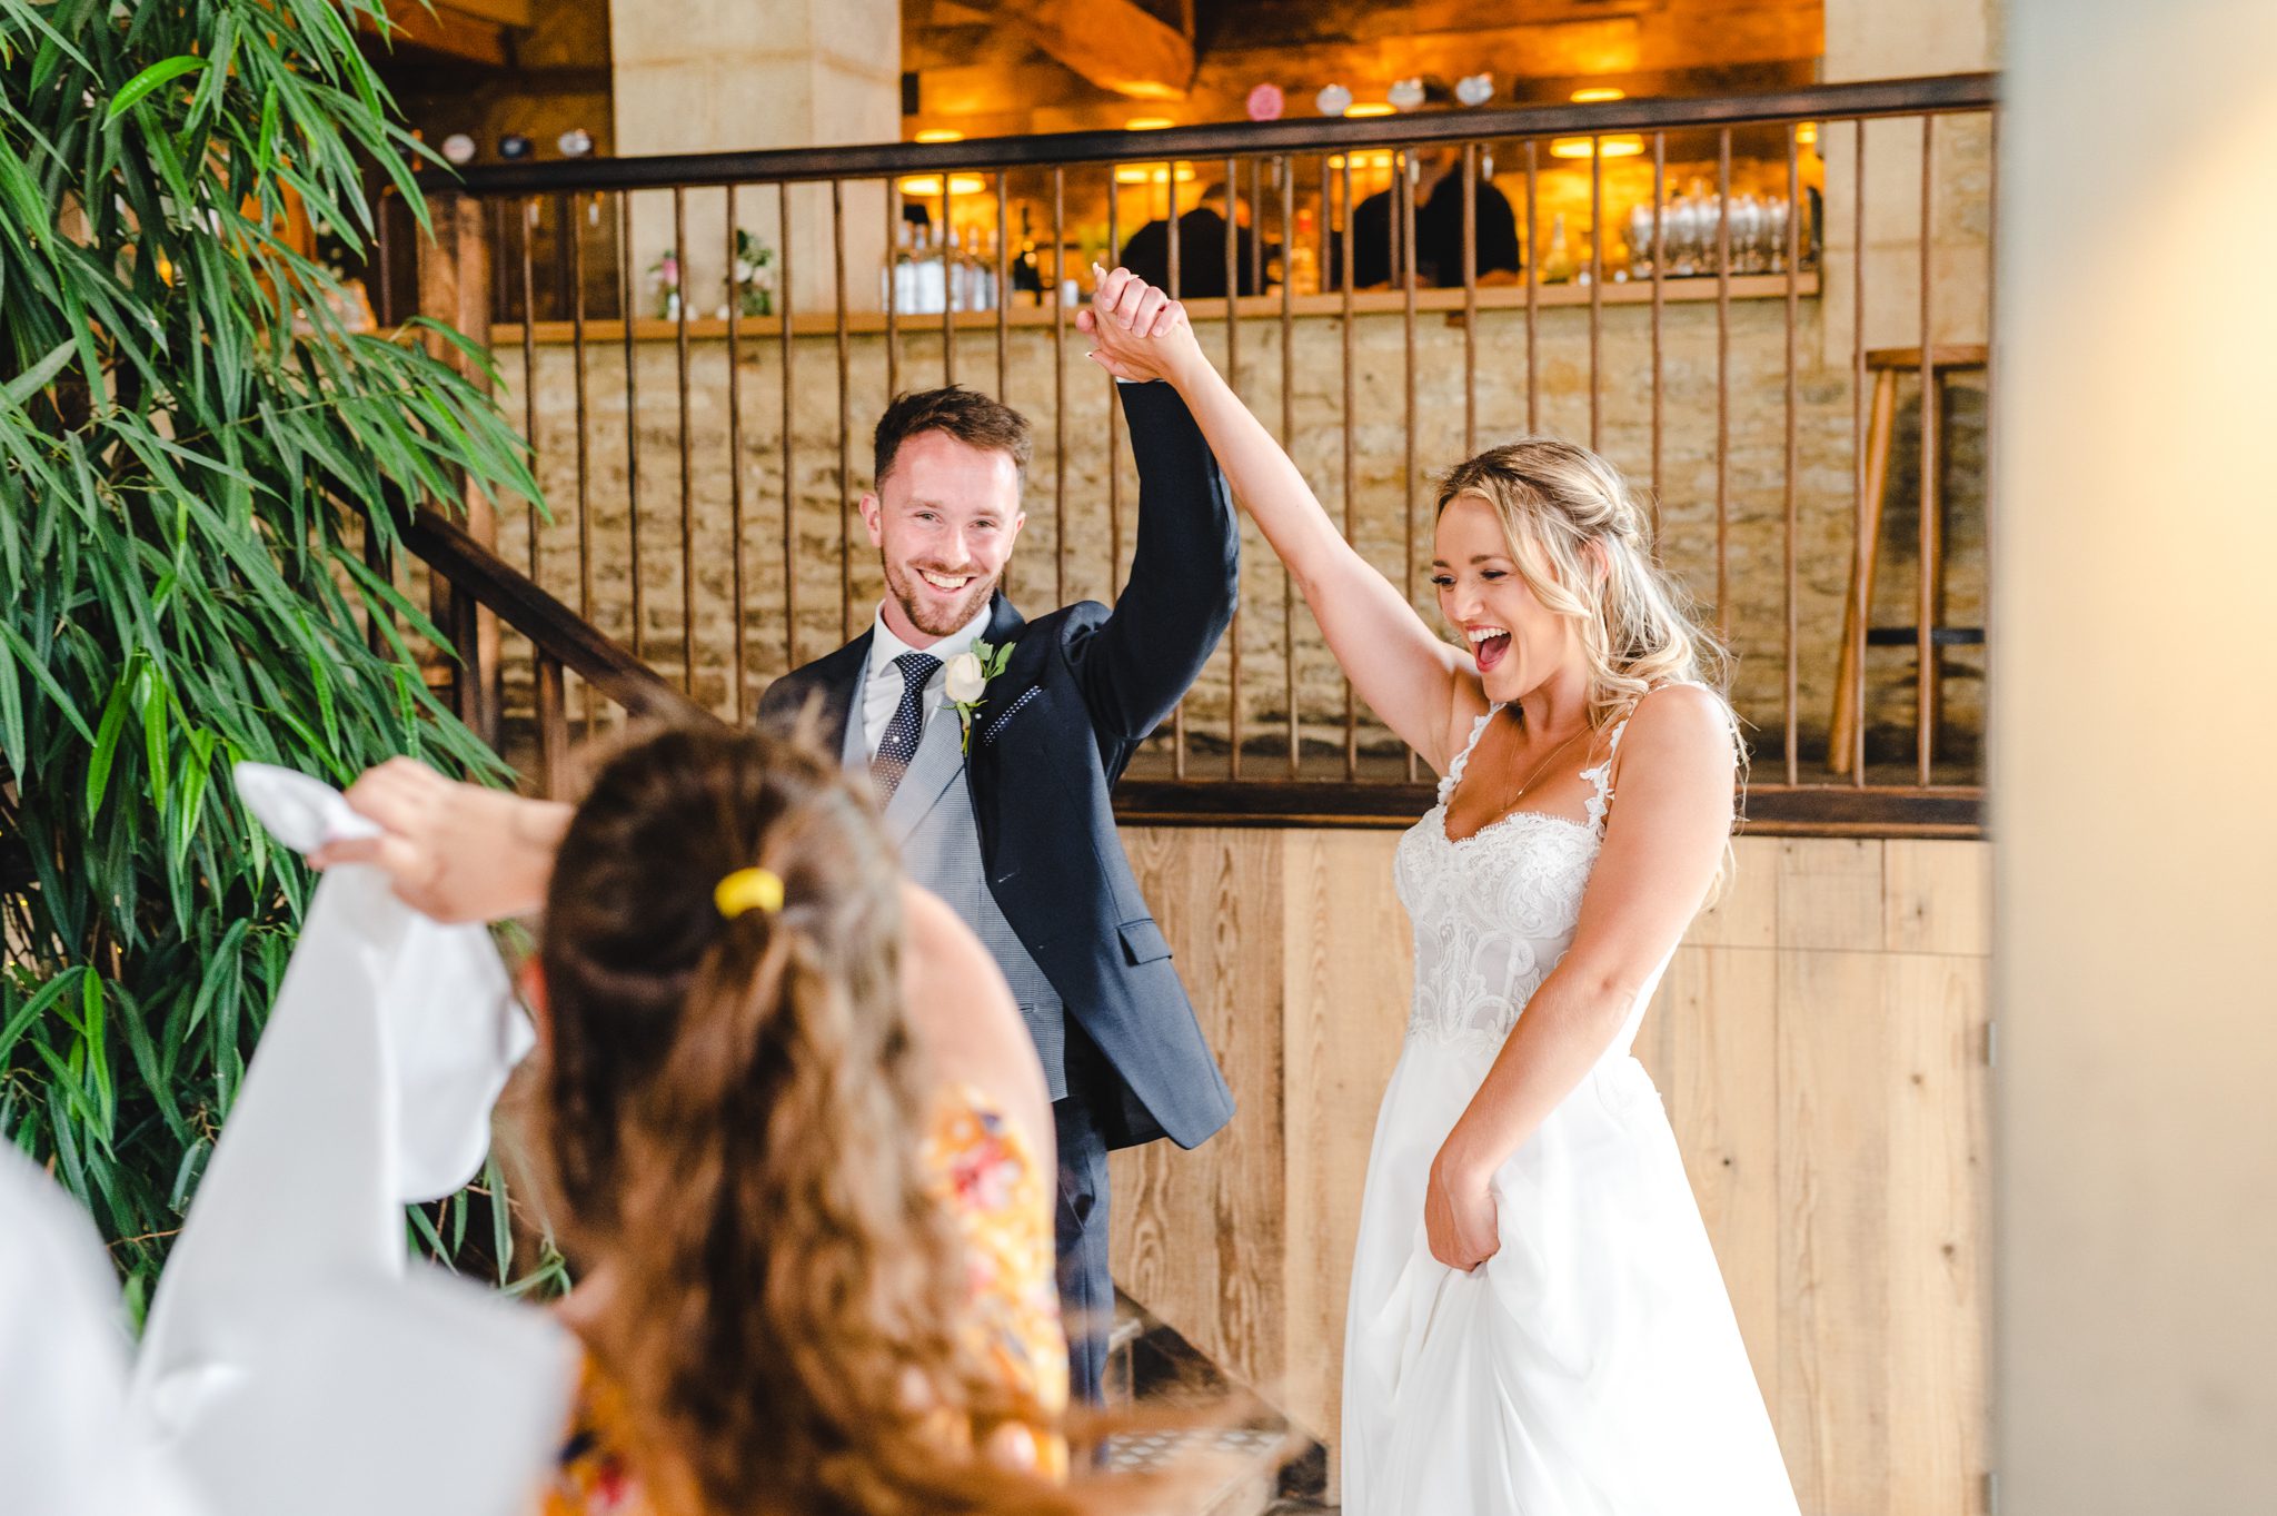
M1394 863L1416 940L1407 1036L1489 1054L1573 942L1580 897L1612 804L1612 756L1628 726L1614 726L1605 758L1583 769L1589 781L1587 822L1519 810L1455 840L1446 833L1446 806L1496 710L1501 706L1478 717L1471 740L1439 781L1439 804L1400 838ZM1617 1056L1626 1056L1635 1020L1617 1038Z

